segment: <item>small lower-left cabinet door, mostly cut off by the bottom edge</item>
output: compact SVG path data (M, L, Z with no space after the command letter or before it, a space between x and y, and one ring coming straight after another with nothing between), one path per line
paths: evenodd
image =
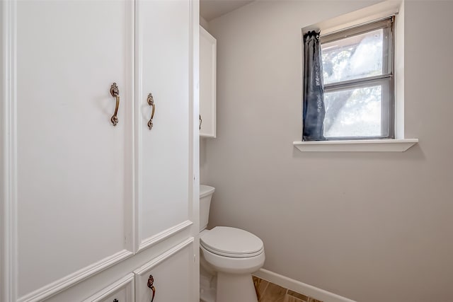
M127 274L84 302L134 302L134 274Z

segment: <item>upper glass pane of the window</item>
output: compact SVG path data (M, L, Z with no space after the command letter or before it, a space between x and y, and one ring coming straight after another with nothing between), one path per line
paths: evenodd
M321 54L324 84L386 73L383 70L382 46L387 32L386 28L381 28L323 43Z

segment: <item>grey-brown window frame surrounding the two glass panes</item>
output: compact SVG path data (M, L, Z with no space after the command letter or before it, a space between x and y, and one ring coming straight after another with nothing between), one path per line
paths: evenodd
M326 44L328 42L335 42L338 40L343 40L348 37L353 37L355 35L360 35L363 33L369 33L373 30L379 30L383 28L388 28L387 39L383 40L382 49L385 47L388 48L387 59L383 59L382 63L384 64L383 69L386 72L383 72L378 76L368 76L357 79L350 79L346 81L338 81L335 83L324 84L324 93L341 91L350 88L360 88L360 87L371 87L377 86L372 85L372 83L378 83L384 88L388 93L382 93L382 108L381 108L381 133L384 135L381 136L368 136L368 137L326 137L328 141L342 141L342 140L369 140L369 139L394 139L395 138L395 76L394 76L394 56L395 56L395 40L394 40L394 24L395 16L382 18L377 21L372 21L369 23L362 23L360 25L355 25L350 28L345 28L342 30L335 31L333 33L328 33L326 35L320 35L320 45ZM322 53L322 51L321 51ZM322 58L321 58L322 60ZM382 89L384 91L384 89ZM387 134L387 135L385 135Z

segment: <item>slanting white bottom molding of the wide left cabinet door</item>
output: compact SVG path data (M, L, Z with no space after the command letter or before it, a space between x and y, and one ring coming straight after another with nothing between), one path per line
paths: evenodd
M38 302L42 301L45 298L49 298L50 296L54 296L58 294L60 291L73 286L74 284L87 279L93 274L97 274L108 267L116 265L117 263L125 260L127 257L134 255L133 252L129 250L122 250L121 252L117 252L115 255L110 257L106 257L103 260L94 263L93 265L89 265L88 267L84 267L80 269L78 272L74 272L73 274L69 274L67 277L59 279L47 286L42 286L42 288L37 289L36 291L32 291L30 294L23 296L18 299L18 302Z

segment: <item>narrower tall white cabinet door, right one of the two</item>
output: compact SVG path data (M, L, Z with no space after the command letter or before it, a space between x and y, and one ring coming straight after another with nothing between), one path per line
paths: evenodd
M137 2L137 250L191 223L191 9L187 0Z

